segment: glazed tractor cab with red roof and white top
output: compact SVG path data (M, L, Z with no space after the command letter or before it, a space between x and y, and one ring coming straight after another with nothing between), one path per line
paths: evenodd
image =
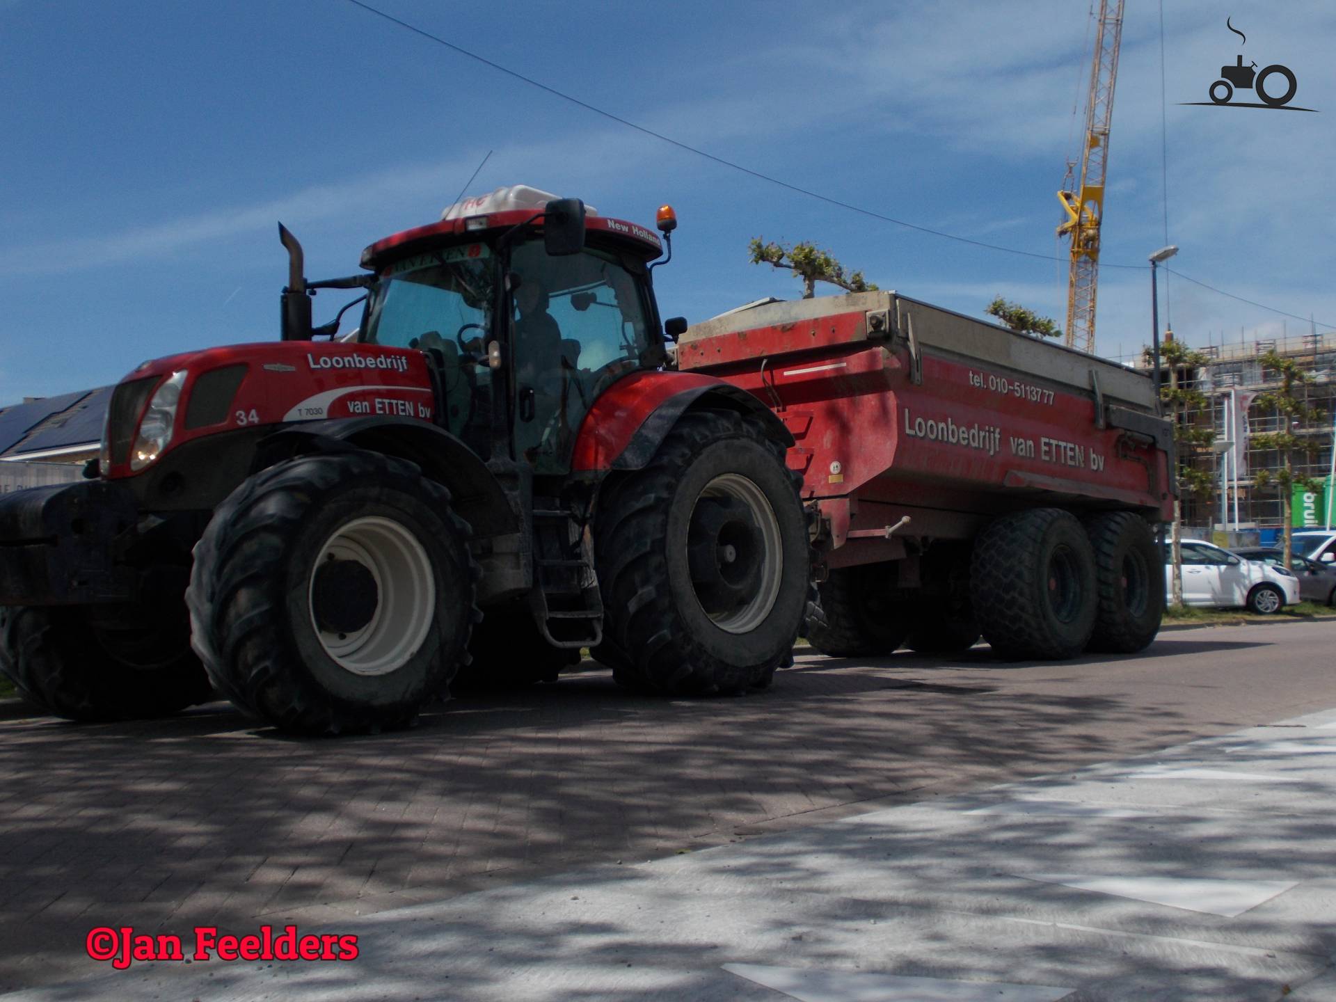
M358 341L424 351L438 424L482 458L569 473L599 395L665 362L648 265L660 254L640 226L500 188L367 247L375 282Z

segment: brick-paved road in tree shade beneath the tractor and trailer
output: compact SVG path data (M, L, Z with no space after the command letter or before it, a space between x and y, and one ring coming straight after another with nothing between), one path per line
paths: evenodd
M100 973L83 955L96 925L337 922L1164 747L1329 695L1296 676L1226 711L1156 683L1153 659L1124 660L800 657L768 692L701 700L589 671L339 740L255 729L227 704L88 727L0 704L0 991Z

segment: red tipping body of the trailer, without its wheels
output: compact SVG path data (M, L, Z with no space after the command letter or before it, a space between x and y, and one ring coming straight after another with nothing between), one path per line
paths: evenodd
M831 566L1038 505L1172 517L1173 434L1148 377L896 293L725 314L687 330L677 365L784 422Z

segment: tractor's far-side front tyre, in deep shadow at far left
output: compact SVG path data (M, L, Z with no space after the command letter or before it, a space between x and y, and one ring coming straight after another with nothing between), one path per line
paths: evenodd
M0 608L0 673L68 720L167 716L211 696L186 607Z

